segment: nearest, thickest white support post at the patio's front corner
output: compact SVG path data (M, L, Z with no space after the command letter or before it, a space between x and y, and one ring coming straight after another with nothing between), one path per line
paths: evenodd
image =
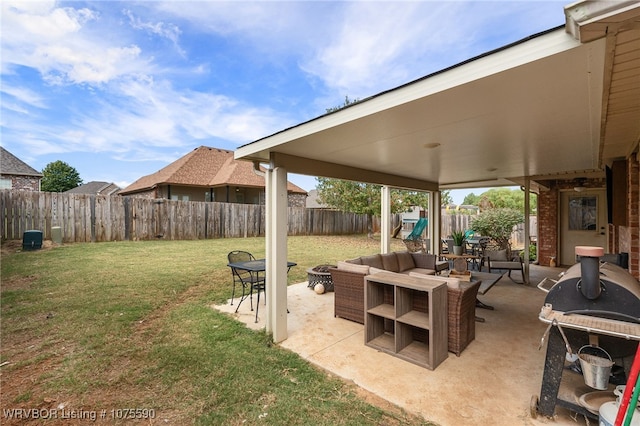
M287 338L287 171L267 172L267 332L273 341Z

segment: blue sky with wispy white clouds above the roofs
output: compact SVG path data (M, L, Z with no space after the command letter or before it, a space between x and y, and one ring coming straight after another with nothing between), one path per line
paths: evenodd
M562 25L569 3L3 0L1 144L125 187Z

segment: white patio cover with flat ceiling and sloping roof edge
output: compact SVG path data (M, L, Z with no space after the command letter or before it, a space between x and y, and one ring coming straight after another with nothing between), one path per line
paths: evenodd
M567 8L567 30L283 130L235 156L425 190L522 184L527 176L536 189L546 179L604 176L640 138L640 6L617 6L596 18ZM578 22L572 13L582 13Z

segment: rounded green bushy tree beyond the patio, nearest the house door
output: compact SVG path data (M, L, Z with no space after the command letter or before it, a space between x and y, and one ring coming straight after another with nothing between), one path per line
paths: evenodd
M506 249L511 256L511 233L513 227L524 223L524 214L515 209L485 210L471 220L471 229L479 234L493 239L500 249Z

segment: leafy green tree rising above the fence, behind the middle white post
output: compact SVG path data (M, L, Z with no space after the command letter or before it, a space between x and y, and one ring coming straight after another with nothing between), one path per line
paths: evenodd
M381 214L381 186L333 178L316 178L318 201L335 209L366 214L369 237L373 234L372 218ZM391 213L404 213L414 206L426 210L429 196L426 192L391 190Z

